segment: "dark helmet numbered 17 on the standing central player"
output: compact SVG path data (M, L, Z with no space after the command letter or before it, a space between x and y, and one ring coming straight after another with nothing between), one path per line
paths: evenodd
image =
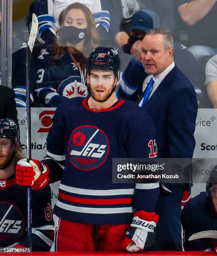
M87 59L87 72L90 69L111 70L114 73L121 70L121 59L116 49L111 47L97 47Z

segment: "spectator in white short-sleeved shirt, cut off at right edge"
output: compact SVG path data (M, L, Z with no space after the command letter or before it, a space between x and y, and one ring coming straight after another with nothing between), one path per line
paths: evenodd
M217 108L217 55L213 56L205 68L207 93L212 101L213 107Z

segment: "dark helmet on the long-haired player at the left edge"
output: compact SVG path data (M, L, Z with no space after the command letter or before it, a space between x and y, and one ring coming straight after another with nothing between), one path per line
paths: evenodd
M0 138L11 138L17 146L19 136L17 125L11 118L0 119Z

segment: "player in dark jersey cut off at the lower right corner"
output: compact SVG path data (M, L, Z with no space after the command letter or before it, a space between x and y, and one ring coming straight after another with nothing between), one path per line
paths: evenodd
M217 165L207 181L206 192L201 192L182 210L183 247L185 251L214 250L217 240L201 238L188 241L195 233L217 230Z

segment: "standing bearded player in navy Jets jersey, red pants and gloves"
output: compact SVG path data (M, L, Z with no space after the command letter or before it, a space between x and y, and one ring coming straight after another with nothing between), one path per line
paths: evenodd
M151 118L134 102L115 97L119 76L118 52L96 48L86 69L91 97L59 105L45 159L32 160L33 168L20 162L16 167L20 185L40 189L49 179L61 180L54 208L60 218L56 251L132 252L154 243L159 184L112 183L113 158L157 155Z

